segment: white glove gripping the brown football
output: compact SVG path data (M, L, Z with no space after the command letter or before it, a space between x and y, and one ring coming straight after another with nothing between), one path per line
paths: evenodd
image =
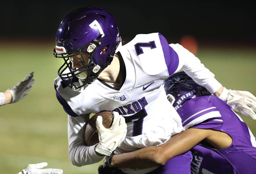
M113 112L113 123L110 128L105 128L102 125L102 117L96 119L96 128L99 133L99 144L95 151L103 155L111 155L112 152L124 140L127 132L127 125L123 116L118 112Z

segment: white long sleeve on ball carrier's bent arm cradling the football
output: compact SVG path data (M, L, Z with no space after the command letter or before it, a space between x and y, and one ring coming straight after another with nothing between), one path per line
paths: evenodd
M84 140L85 123L88 115L72 117L68 115L68 155L75 166L97 163L104 156L97 155L93 146L87 146Z

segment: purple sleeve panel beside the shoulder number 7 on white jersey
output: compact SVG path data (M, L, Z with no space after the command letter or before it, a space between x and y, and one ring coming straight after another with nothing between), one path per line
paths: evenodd
M168 69L169 75L172 75L178 68L179 56L178 54L169 46L167 40L162 34L159 34L160 43L164 52L164 59Z

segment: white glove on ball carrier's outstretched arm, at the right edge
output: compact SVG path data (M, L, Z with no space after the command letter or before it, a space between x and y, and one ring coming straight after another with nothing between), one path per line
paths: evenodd
M221 100L226 102L235 112L256 119L256 97L247 91L236 91L223 88Z

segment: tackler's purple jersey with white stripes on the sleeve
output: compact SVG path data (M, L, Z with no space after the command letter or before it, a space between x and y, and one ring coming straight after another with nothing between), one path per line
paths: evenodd
M255 137L225 102L213 95L196 97L185 102L178 113L185 129L217 130L227 133L233 140L228 148L220 150L199 145L194 147L191 150L193 173L256 173Z

